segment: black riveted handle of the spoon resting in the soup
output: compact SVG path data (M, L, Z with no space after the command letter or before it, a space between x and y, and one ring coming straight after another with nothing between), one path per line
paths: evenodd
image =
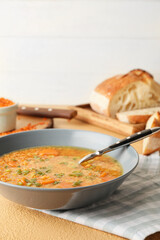
M146 129L146 130L143 130L143 131L140 131L140 132L137 132L129 137L126 137L116 143L114 143L113 145L110 145L109 147L107 148L104 148L102 150L99 150L99 155L102 155L104 153L107 153L107 152L110 152L112 150L115 150L119 147L122 147L122 146L126 146L126 145L129 145L131 143L134 143L134 142L137 142L143 138L146 138L147 136L153 134L153 133L156 133L160 131L160 127L154 127L154 128L151 128L151 129Z

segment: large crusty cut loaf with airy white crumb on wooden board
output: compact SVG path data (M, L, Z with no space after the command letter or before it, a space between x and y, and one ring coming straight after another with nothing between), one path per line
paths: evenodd
M160 84L148 72L132 70L100 83L91 94L90 105L112 118L117 112L160 106Z

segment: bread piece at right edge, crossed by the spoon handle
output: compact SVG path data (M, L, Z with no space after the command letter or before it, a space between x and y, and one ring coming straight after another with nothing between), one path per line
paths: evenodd
M154 113L146 123L146 129L160 127L160 113ZM142 153L145 155L151 154L160 150L160 132L143 139Z

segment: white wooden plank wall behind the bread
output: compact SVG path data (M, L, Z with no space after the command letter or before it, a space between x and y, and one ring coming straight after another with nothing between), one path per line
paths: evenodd
M159 0L0 0L0 96L85 103L134 68L160 81Z

